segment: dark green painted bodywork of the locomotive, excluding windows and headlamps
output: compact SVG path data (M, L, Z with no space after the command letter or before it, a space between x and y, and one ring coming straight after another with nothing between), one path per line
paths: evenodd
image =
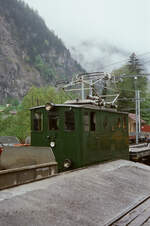
M34 131L33 126L31 126L31 145L50 146L50 142L54 141L53 153L58 162L59 170L63 170L63 163L66 159L71 160L73 169L107 160L128 159L127 114L88 109L87 107L56 105L58 129L49 130L48 112L45 108L39 107L31 110L32 125L34 111L43 113L43 122L41 131ZM74 130L67 131L65 128L66 111L74 112ZM85 114L87 127L89 126L86 129ZM95 117L95 130L90 129L90 120L93 115ZM124 122L126 128L124 128Z

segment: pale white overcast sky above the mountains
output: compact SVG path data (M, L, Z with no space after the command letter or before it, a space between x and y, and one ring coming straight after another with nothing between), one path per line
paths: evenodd
M79 47L88 59L102 59L107 47L120 49L126 57L150 51L150 0L24 0L38 10L47 26L68 48ZM91 47L92 46L92 47ZM97 50L101 46L101 51ZM106 47L106 48L105 48ZM150 55L143 55L148 60ZM120 59L120 58L118 58ZM114 56L115 62L117 57ZM106 61L106 59L105 59Z

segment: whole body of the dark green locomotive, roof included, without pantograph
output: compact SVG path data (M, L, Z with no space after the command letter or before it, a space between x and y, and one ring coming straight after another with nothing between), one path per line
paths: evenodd
M128 159L128 114L77 101L33 107L31 146L51 147L59 171Z

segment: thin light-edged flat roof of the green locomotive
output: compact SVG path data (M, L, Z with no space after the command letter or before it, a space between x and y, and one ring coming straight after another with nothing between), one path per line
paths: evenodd
M114 113L121 113L121 114L128 114L127 112L120 112L116 111L111 108L104 108L93 104L53 104L54 107L71 107L71 108L85 108L85 109L92 109L92 110L101 110L106 112L114 112ZM30 108L30 110L39 109L39 108L45 108L45 105L36 106Z

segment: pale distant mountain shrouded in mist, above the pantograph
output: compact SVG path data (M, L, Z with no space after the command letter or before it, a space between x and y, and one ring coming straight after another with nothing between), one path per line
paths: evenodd
M84 40L76 46L70 46L70 51L82 67L88 72L91 71L108 71L111 72L115 66L112 63L127 60L130 52L121 46L103 40ZM116 68L121 65L116 65Z

